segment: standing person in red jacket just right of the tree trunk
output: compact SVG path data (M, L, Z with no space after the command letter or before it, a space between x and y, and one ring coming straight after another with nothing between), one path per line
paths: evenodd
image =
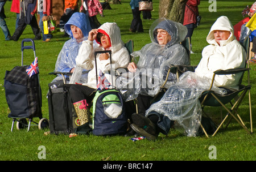
M188 0L185 6L185 14L184 14L184 21L183 25L187 27L188 34L186 36L190 38L193 35L194 28L197 27L197 16L199 15L198 6L200 5L200 0ZM191 53L193 53L191 51Z

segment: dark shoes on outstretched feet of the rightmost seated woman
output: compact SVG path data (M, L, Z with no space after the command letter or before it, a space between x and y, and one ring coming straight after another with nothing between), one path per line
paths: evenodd
M146 137L147 140L155 140L158 137L155 124L141 114L131 115L133 122L130 126L139 135Z

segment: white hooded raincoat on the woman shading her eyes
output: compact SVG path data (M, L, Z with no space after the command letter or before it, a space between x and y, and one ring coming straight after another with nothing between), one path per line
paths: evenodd
M120 67L126 68L130 62L130 54L129 51L125 48L125 44L123 44L123 41L121 40L121 33L118 25L116 23L104 23L98 29L102 29L110 37L112 46L108 50L112 51L112 69ZM94 51L99 50L105 49L102 46L93 49L92 41L83 41L81 48L79 49L79 54L76 58L77 66L85 68L86 70L91 69L88 73L88 82L83 83L83 85L87 85L91 88L97 88ZM97 74L99 74L100 70L102 72L110 70L110 58L104 61L100 61L99 57L100 54L97 54ZM109 74L105 74L105 76L111 84L114 84L112 83L112 78ZM115 81L114 76L113 81Z

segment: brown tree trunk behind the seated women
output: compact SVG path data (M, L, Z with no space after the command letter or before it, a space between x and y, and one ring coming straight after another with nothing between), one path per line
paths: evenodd
M186 2L187 0L159 1L159 18L183 23Z

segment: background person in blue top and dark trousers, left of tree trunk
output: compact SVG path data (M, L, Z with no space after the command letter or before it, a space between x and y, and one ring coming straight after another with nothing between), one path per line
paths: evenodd
M133 12L133 20L131 21L130 32L144 32L141 20L141 11L139 11L139 2L141 0L131 0L130 6Z

